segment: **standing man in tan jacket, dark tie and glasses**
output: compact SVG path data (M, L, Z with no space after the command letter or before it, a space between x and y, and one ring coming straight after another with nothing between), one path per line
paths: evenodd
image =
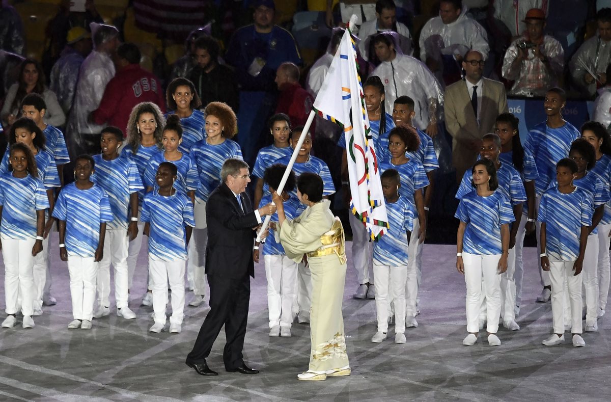
M464 56L464 81L445 89L445 127L452 136L452 164L459 183L477 160L481 137L494 133L497 115L507 112L507 93L501 82L483 78L484 60L476 50Z

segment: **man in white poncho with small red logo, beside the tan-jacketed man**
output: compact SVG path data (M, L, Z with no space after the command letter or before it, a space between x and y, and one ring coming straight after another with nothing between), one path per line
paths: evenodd
M441 85L426 65L411 56L401 54L395 32L383 32L373 38L376 56L382 61L371 75L384 84L386 110L392 111L395 99L407 95L415 101L414 126L431 137L437 134L437 113L444 95Z

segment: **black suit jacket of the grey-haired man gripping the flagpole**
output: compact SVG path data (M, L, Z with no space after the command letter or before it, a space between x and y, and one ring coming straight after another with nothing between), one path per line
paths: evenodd
M206 203L208 244L206 246L206 273L232 279L246 274L255 277L252 246L258 225L251 200L245 192L240 194L244 212L233 192L221 183Z

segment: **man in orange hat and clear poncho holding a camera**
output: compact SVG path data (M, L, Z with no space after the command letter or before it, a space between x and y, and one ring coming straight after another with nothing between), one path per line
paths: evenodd
M503 78L513 80L509 95L542 97L549 87L558 86L564 68L560 42L543 34L545 12L526 13L524 35L514 40L505 53Z

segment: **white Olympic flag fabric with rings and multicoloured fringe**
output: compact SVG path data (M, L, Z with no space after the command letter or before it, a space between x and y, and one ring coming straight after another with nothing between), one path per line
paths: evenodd
M313 108L323 119L343 127L352 192L350 208L367 227L370 238L376 240L389 224L351 26L352 23L342 37Z

